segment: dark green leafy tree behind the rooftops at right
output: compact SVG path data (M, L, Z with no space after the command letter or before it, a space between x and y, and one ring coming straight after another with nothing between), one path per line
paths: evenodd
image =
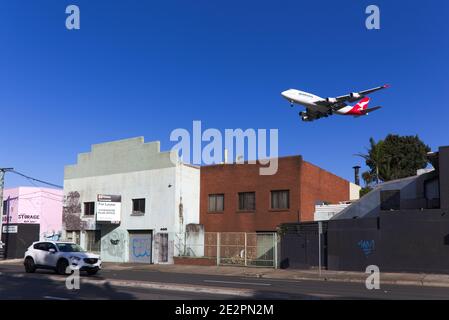
M384 140L370 139L367 154L358 154L365 159L369 171L363 173L367 186L374 182L391 181L416 175L418 169L427 166L430 147L418 136L389 134Z

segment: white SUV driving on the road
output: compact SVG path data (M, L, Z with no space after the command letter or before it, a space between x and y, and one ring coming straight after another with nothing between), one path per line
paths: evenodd
M23 264L28 273L36 269L53 269L66 274L67 267L71 266L94 275L101 269L100 256L86 252L75 243L60 241L34 242L25 252Z

